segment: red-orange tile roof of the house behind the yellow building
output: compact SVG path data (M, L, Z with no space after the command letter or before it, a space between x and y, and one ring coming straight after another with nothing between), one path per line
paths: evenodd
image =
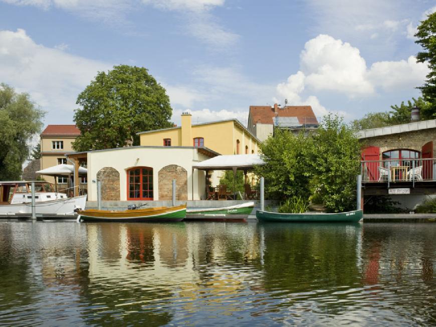
M250 106L249 115L253 124L273 124L273 117L298 117L302 124L318 124L311 106L285 106L277 107L277 114L271 106Z

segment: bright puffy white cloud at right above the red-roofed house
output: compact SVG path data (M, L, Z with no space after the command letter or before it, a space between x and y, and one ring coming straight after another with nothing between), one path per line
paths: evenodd
M375 62L368 69L359 49L328 35L319 35L305 44L300 54L300 70L279 83L276 92L291 105L312 105L316 115L327 109L318 98L303 94L329 91L348 98L374 96L380 91L413 90L428 73L425 63L413 56L407 60ZM277 101L277 98L274 100Z

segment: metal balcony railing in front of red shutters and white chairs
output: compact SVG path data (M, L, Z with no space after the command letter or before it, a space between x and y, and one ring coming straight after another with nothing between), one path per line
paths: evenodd
M396 183L436 181L436 159L362 160L362 182Z

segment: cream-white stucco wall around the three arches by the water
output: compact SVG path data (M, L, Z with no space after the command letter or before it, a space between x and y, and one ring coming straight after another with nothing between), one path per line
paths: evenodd
M97 173L104 167L112 167L120 174L121 201L127 201L127 170L133 167L151 167L153 169L153 200L159 200L158 174L163 167L168 165L177 165L186 170L187 199L200 200L205 193L204 172L194 170L192 176L192 165L209 158L209 156L198 153L195 148L173 146L139 146L88 152L88 201L97 201L97 183L95 182Z

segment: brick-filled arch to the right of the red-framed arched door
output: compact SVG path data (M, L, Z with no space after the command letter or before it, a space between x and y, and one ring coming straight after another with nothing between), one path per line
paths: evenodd
M168 165L159 171L159 200L172 199L172 180L176 180L176 200L188 199L188 174L183 167Z

